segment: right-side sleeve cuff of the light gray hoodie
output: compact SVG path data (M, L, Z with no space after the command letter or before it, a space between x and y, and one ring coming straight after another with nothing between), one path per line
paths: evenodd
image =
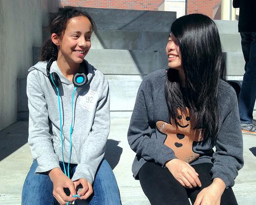
M95 176L95 173L91 166L86 164L78 164L76 167L76 171L72 177L72 181L75 181L80 178L85 178L92 185L94 181L94 176Z

